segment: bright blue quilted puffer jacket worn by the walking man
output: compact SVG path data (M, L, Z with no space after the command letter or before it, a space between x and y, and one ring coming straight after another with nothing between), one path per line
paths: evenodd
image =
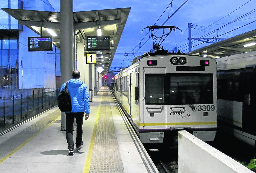
M60 91L66 86L66 82L62 85ZM90 113L90 99L86 84L79 79L70 79L68 81L68 92L71 97L71 112Z

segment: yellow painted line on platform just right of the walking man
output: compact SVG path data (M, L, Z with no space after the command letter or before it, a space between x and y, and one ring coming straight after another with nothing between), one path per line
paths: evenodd
M98 112L97 112L97 115L96 115L96 120L95 120L95 123L94 123L93 132L92 132L92 135L91 135L90 145L89 145L88 153L87 153L87 156L86 156L86 159L85 159L85 165L83 167L83 173L89 173L89 171L90 171L91 157L92 157L92 153L93 153L93 148L94 148L94 143L95 143L95 138L96 138L96 132L97 132L97 129L98 129L98 120L99 120L99 116L100 116L102 97L103 97L103 95L101 96L101 99L100 99L100 106L98 108Z

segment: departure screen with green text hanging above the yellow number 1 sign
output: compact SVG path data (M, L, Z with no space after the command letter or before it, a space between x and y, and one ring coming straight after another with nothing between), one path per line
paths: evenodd
M86 50L110 50L110 37L87 37Z

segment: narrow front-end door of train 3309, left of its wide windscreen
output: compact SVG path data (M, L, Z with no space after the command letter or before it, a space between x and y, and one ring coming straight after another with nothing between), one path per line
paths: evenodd
M143 68L143 128L166 128L166 68Z

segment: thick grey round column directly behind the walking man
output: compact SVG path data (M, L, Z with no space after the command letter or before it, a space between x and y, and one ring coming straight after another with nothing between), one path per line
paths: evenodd
M60 74L67 82L74 69L73 0L60 0ZM61 130L66 130L66 115L61 112Z

